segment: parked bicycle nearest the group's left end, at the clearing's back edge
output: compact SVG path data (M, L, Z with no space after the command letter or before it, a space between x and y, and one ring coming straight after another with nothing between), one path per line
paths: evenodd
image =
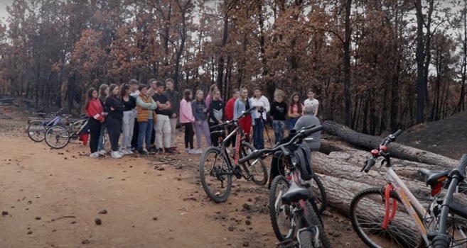
M61 149L68 145L70 139L77 140L80 133L87 128L87 118L70 123L68 128L53 125L45 132L45 143L53 149Z

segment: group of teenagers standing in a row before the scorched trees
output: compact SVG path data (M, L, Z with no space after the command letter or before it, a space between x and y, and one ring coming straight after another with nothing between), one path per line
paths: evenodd
M240 126L247 140L250 140L253 127L252 142L256 149L264 148L264 128L267 113L272 120L276 142L284 137L286 118L289 118L289 130L304 115L304 106L308 106L311 115L318 113L318 100L313 91L308 91L308 99L301 103L300 95L294 93L289 104L284 102L284 91L274 92L274 102L269 104L260 88L254 89L254 96L248 98L248 90L242 88L232 91L232 98L227 103L222 100L220 90L213 84L207 96L202 90L186 89L183 96L173 88L173 80L165 83L156 79L149 80L149 86L139 84L131 79L128 84L102 84L99 91L90 88L87 91L85 111L89 116L90 157L105 155L103 135L106 130L112 148L111 156L121 158L126 154L178 154L176 147L176 126L180 122L185 130L185 148L190 154L200 154L202 137L208 147L217 146L219 133L210 133L210 127L224 123L226 120L239 118L245 111L254 110L240 118ZM223 128L221 128L223 129ZM119 138L123 134L119 147ZM193 137L196 135L196 149ZM235 147L235 139L232 140Z

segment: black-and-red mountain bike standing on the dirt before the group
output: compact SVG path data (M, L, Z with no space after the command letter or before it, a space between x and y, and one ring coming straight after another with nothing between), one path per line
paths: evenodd
M254 184L259 186L267 183L267 168L262 159L255 159L253 162L245 160L239 162L240 157L245 157L251 151L254 150L253 145L245 140L245 133L239 125L239 120L245 115L251 113L254 108L250 108L240 115L239 118L233 120L227 120L225 123L219 125L213 125L211 129L225 128L227 125L235 125L236 128L232 130L232 133L227 135L225 139L222 139L218 147L209 147L203 152L200 160L200 179L203 189L208 197L215 203L221 203L227 201L232 191L232 175L241 179L242 177L247 181L253 181ZM218 130L215 132L223 132ZM227 141L234 138L236 140L234 162L230 160L230 154L227 152ZM213 158L209 156L213 155ZM212 160L211 166L205 166ZM243 171L240 168L242 165ZM207 171L206 171L207 169ZM254 174L252 173L254 172ZM209 181L209 182L208 182ZM227 186L224 185L227 181ZM220 183L220 188L211 190L210 186ZM222 191L225 192L222 193Z

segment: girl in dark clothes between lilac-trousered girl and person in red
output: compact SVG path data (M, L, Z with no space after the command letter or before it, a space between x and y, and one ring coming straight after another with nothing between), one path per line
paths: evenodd
M220 91L215 89L213 91L213 101L209 105L209 127L213 125L219 125L224 123L224 103L220 100ZM220 131L224 128L214 128L213 131ZM219 145L219 137L225 137L225 134L214 133L211 135L211 142L213 146L217 147Z

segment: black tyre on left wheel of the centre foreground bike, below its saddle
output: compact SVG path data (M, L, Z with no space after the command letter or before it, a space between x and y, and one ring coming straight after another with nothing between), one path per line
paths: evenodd
M286 213L287 211L286 208L288 207L290 210L290 205L286 205L286 208L281 208L282 206L284 206L284 205L281 205L281 207L276 209L276 201L277 201L276 192L277 192L277 187L279 186L279 183L281 183L281 186L283 187L281 188L282 194L285 193L287 189L289 189L290 182L287 181L287 179L284 176L279 175L279 176L276 176L274 180L272 180L271 190L269 191L269 218L271 219L271 225L272 225L272 230L274 231L274 235L276 235L277 240L279 240L279 242L282 242L286 239L291 239L294 236L295 225L291 225L291 227L289 227L289 231L287 232L286 235L284 235L282 231L280 230L279 225L281 224L279 224L277 217L279 215L284 214L286 216L286 220L289 220L289 223L291 224L292 220L290 220L289 217L293 217L293 216L290 214L289 216L287 216L288 213ZM284 188L284 186L287 186L287 188ZM280 199L279 199L279 203L281 203Z

